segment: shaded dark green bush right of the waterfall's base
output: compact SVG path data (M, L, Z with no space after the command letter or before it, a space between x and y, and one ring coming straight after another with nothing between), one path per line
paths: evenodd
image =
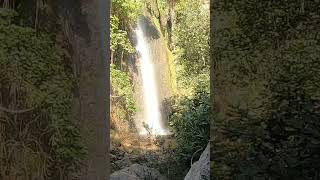
M202 91L192 98L180 97L173 105L169 123L177 138L178 156L184 163L197 150L204 150L209 141L210 108L209 94Z

